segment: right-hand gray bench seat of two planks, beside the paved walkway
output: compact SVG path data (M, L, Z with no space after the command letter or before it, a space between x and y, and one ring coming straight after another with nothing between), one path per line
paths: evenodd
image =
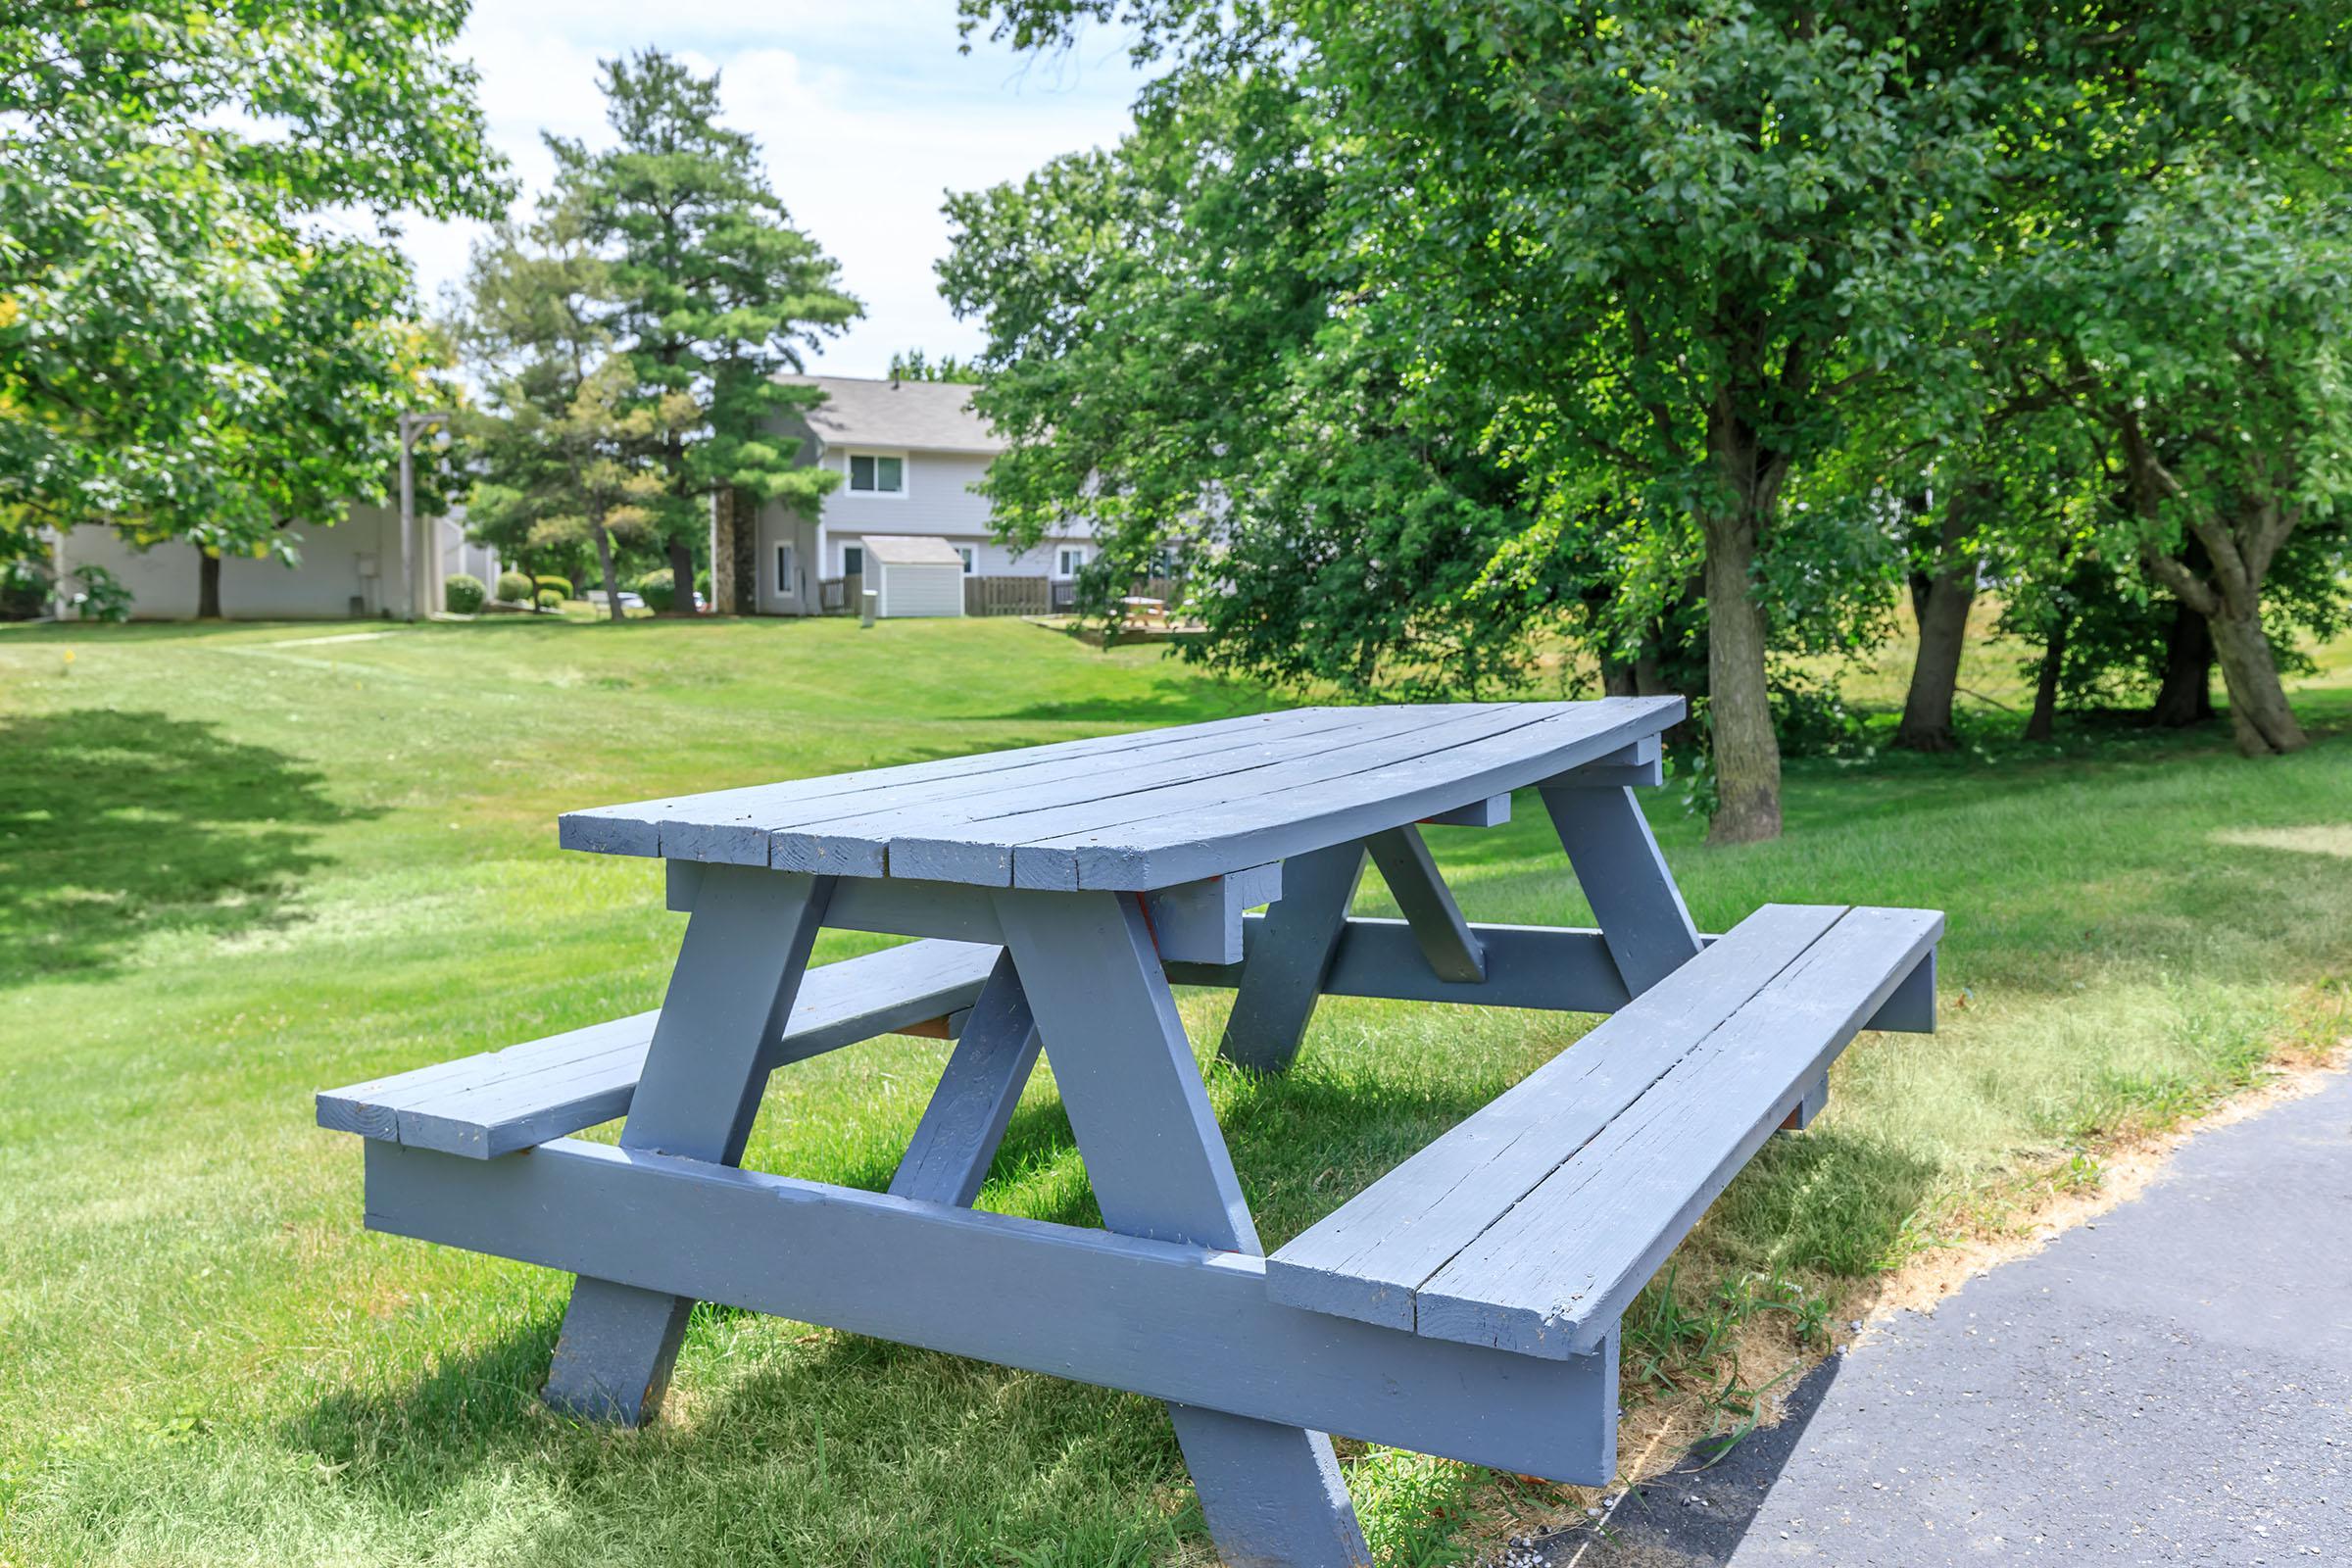
M1265 1260L1289 1307L1590 1354L1912 976L1931 910L1764 905Z

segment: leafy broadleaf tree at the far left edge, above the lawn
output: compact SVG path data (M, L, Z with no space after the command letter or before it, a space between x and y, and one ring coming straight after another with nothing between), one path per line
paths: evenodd
M26 0L0 16L0 571L40 529L292 555L437 395L383 244L494 216L452 0ZM353 214L376 233L353 233ZM207 569L209 576L212 569Z

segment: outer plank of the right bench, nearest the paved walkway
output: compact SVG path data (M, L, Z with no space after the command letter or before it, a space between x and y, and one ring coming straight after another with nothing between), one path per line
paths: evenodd
M1536 1356L1595 1349L1940 933L1931 910L1849 910L1432 1274L1416 1331Z

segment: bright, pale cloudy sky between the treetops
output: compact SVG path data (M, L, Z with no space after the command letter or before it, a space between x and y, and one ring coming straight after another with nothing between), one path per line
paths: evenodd
M814 367L844 376L880 376L903 348L978 348L978 324L948 313L931 273L948 249L943 193L1110 146L1136 92L1108 33L1051 61L983 38L957 54L955 0L475 0L459 49L482 73L492 139L524 202L550 176L539 132L604 141L597 61L647 45L720 71L727 122L760 139L793 221L842 261L866 320ZM475 233L407 226L428 306L463 277Z

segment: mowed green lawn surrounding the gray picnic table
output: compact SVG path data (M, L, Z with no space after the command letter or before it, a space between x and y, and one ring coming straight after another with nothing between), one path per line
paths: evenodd
M0 630L0 1563L1200 1559L1157 1408L1051 1378L703 1309L659 1427L546 1415L567 1281L365 1234L310 1093L659 1001L659 867L557 851L560 809L1261 705L1014 621ZM1863 1037L1637 1314L1637 1413L1710 1371L1710 1302L1844 1312L2340 1009L2352 651L2298 708L2317 741L2270 764L2223 729L1797 764L1788 837L1740 851L1653 792L1708 929L1820 900L1950 936L1943 1032ZM1472 917L1590 919L1541 818L1432 832ZM1204 1053L1221 1009L1185 997ZM1268 1244L1583 1027L1327 1001L1287 1079L1211 1067ZM884 1185L938 1060L788 1067L748 1164ZM1094 1222L1047 1074L981 1201ZM1385 1563L1545 1500L1345 1455Z

